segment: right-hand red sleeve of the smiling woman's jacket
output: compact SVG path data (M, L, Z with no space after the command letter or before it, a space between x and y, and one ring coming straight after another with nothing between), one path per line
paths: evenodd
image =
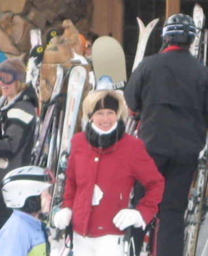
M135 209L142 214L148 224L158 212L162 201L164 177L158 171L154 160L148 155L145 144L138 139L138 146L131 152L131 170L135 178L145 187L145 196L139 200Z

